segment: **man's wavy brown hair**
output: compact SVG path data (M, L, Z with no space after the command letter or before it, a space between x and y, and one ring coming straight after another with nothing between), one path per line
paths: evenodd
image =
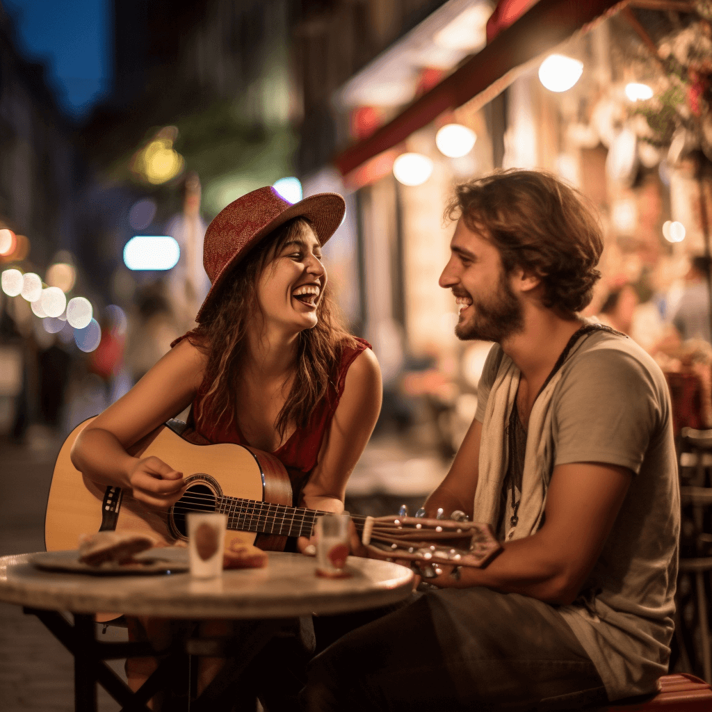
M543 305L564 313L590 303L601 273L603 236L595 211L575 188L545 171L496 171L456 187L447 219L498 249L507 274L515 268L541 278Z

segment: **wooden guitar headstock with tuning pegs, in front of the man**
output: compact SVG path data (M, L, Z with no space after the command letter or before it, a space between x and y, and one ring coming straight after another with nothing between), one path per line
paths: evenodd
M424 517L367 517L362 543L379 559L482 567L500 549L488 524Z

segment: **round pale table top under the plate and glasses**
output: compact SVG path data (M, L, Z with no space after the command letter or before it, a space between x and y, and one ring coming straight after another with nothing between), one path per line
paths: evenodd
M224 571L219 579L189 573L98 576L43 571L29 554L0 557L0 601L31 608L174 618L283 618L335 614L398 602L413 574L387 561L350 556L348 578L315 574L315 559L270 552L262 569Z

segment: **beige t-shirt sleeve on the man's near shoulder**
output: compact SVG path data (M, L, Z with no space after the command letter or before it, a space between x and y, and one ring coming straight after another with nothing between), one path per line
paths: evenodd
M616 349L587 352L553 398L555 465L600 462L639 472L661 402L659 384L637 358Z

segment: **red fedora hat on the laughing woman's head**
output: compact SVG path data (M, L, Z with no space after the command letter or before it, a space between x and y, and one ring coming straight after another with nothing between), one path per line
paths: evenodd
M337 193L319 193L290 203L271 187L232 201L209 224L203 246L203 266L211 288L195 317L200 322L226 276L251 248L286 221L305 217L324 244L344 219L346 204Z

